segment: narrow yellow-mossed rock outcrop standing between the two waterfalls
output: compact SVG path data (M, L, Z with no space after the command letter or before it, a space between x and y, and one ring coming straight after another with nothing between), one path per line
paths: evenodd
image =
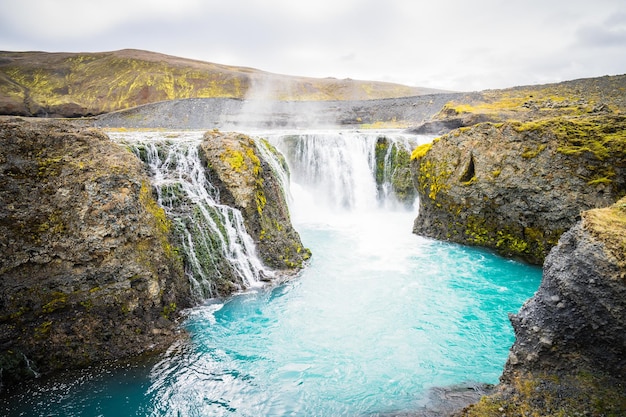
M269 143L258 146L276 152ZM300 270L311 252L302 247L282 185L254 140L212 131L205 134L200 150L211 182L220 189L220 200L242 212L263 263L287 273Z

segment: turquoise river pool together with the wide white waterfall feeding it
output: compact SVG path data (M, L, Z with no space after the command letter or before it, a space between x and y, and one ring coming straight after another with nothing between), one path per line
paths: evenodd
M513 342L508 314L541 270L412 234L417 203L377 194L372 134L296 136L294 147L291 133L263 135L287 155L292 220L313 253L295 279L191 309L190 340L156 362L41 381L4 411L394 415L426 406L435 387L497 383Z

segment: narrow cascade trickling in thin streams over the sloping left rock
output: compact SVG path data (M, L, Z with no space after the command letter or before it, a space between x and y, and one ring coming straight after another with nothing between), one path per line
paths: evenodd
M110 136L149 167L158 203L179 236L186 274L198 301L217 296L219 286L260 285L266 271L241 212L220 203L198 156L201 132L124 132Z

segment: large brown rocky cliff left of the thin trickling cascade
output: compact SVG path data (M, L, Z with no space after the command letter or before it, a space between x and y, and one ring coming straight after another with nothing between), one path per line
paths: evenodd
M141 162L97 130L0 121L5 383L162 349L189 305Z

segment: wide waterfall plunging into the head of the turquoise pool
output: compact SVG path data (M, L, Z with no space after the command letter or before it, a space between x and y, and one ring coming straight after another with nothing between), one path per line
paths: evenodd
M274 132L264 137L286 156L294 192L306 189L316 208L332 212L412 208L416 194L409 155L417 144L432 139L389 131ZM408 181L405 190L401 178Z

